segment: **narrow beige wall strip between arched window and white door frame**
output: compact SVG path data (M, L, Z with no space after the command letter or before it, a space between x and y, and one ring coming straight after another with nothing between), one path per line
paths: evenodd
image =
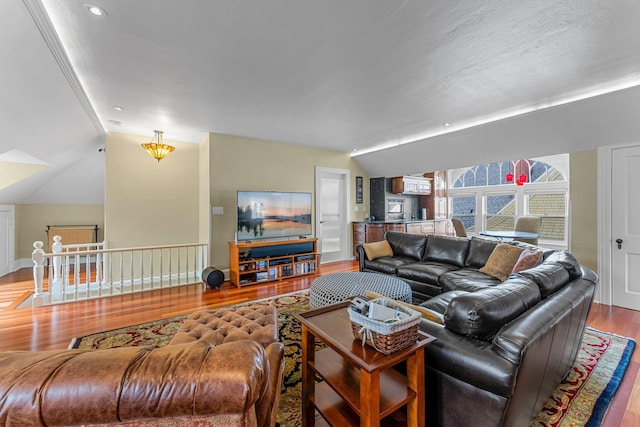
M571 243L569 251L585 267L598 271L598 152L570 155Z

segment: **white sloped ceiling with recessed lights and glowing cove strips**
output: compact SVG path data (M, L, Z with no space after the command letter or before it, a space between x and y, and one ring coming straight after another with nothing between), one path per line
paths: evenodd
M109 131L357 149L371 176L639 141L639 20L636 0L3 0L0 155L51 166L0 202L102 203Z

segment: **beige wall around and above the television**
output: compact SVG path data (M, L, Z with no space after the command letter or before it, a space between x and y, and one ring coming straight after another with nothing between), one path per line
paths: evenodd
M224 215L212 216L211 260L218 268L229 266L228 242L236 227L238 190L315 192L316 166L349 169L350 220L362 220L368 213L354 212L355 177L364 178L364 203L359 207L369 206L369 177L349 153L221 134L211 134L210 143L211 204L224 208Z

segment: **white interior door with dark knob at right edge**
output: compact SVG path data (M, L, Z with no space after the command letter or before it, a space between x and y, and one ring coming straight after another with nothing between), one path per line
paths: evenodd
M640 310L640 147L611 156L613 305Z

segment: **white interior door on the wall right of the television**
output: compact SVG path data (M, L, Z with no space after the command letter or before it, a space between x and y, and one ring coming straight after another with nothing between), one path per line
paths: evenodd
M316 168L316 237L321 262L348 258L349 171Z

